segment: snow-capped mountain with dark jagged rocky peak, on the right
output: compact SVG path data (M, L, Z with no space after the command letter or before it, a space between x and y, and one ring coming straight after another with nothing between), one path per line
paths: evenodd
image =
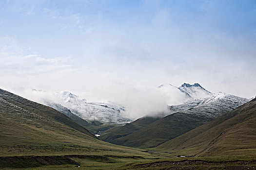
M162 117L186 110L188 114L197 113L202 116L216 117L219 113L228 112L249 101L249 99L222 92L213 94L198 83L194 85L184 83L179 87L166 84L160 85L159 88L170 98L168 101L170 112L162 114ZM193 112L191 112L192 109L194 109Z

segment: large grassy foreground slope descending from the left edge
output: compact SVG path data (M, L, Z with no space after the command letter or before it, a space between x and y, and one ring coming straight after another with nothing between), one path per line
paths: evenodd
M0 90L0 156L100 155L148 153L98 140L67 116L39 103Z

